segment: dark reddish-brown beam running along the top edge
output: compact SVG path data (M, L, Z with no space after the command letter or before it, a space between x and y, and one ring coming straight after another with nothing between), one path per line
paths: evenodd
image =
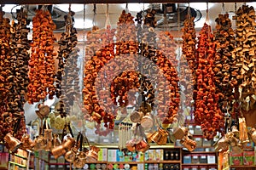
M247 0L246 2L254 2ZM246 3L244 0L1 0L0 4L59 4L59 3Z

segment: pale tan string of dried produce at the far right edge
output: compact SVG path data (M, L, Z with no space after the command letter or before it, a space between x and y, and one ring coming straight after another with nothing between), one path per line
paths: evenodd
M236 48L232 55L236 58L236 79L239 85L239 98L244 110L249 110L249 105L253 106L253 99L256 86L256 65L255 65L255 10L253 6L242 5L236 12ZM238 93L237 91L237 93ZM249 105L247 105L249 104Z

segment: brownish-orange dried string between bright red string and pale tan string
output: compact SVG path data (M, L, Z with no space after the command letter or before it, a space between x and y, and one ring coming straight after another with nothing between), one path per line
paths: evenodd
M234 88L237 88L236 76L238 67L236 58L232 56L236 48L235 31L231 27L229 14L218 14L215 20L216 31L214 31L214 42L216 43L216 54L214 59L215 85L218 94L219 106L223 112L232 109L234 99Z

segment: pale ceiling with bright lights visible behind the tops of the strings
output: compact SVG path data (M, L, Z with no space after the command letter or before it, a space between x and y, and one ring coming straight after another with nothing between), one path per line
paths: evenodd
M79 30L90 30L90 28L93 26L93 20L95 21L95 25L99 28L103 28L106 25L106 14L108 12L109 14L109 23L111 26L116 26L116 23L119 18L119 14L121 14L123 9L126 9L126 11L129 11L133 16L136 16L137 12L141 10L145 10L147 8L156 8L161 9L163 3L110 3L108 4L108 10L107 10L107 4L96 4L96 10L94 13L94 4L71 4L71 9L76 12L75 14L75 27ZM168 3L169 4L169 3ZM196 10L196 22L195 22L195 28L199 30L203 23L206 21L207 16L207 6L208 6L208 15L209 15L209 23L212 26L212 29L215 27L215 19L218 17L218 14L228 12L230 14L230 19L232 18L232 15L235 13L235 8L239 8L243 3L173 3L175 4L176 8L180 8L180 11L182 12L185 8L188 6L191 8L195 8ZM256 7L256 3L247 3L249 5L253 5ZM60 31L61 26L64 28L64 15L68 11L69 4L55 4L54 7L54 14L53 16L54 20L57 22L57 24L60 24ZM20 6L15 5L5 5L3 7L3 10L7 12L6 16L9 18L12 18L12 14L10 14L11 11L15 14L15 9L20 8ZM29 14L30 17L34 15L34 9L37 8L37 5L29 5ZM182 20L178 21L177 18L182 18L182 13L172 13L167 14L168 20L171 20L168 24L168 26L158 26L160 29L169 29L171 31L179 31L182 26L178 26L177 23L182 23ZM162 20L164 20L163 13L156 14L156 20L160 23ZM85 22L84 22L85 21ZM235 26L235 22L233 24Z

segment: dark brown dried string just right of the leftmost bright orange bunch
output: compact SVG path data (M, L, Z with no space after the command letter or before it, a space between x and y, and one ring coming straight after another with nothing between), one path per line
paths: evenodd
M70 11L65 17L66 31L61 34L59 53L57 59L58 70L56 74L56 97L61 99L63 105L59 108L61 116L70 112L70 107L79 95L79 68L77 48L77 31L73 27L73 15Z

